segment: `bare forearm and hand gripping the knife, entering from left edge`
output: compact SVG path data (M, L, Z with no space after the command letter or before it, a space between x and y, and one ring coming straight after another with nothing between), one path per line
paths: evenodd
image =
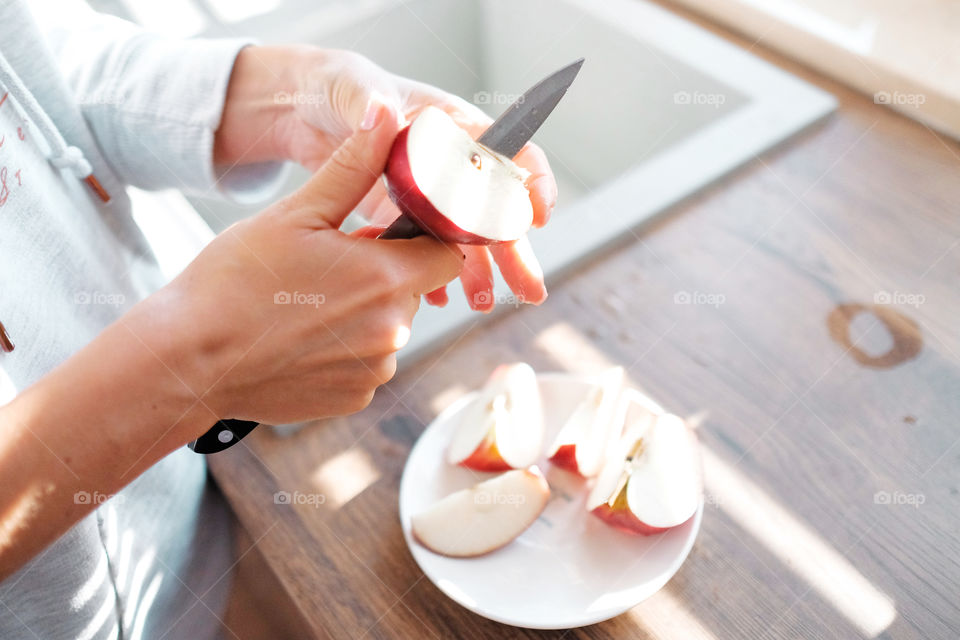
M420 294L463 265L432 238L337 230L383 170L396 120L375 106L302 189L0 406L0 580L89 514L89 495L118 492L218 418L346 414L393 375Z

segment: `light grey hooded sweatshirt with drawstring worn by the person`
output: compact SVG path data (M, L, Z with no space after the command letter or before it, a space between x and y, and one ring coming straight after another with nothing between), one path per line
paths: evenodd
M278 166L219 181L212 166L246 44L167 40L78 0L0 3L0 322L16 344L0 352L8 396L164 283L126 185L247 201L277 182ZM109 202L85 181L91 172ZM97 437L96 425L82 426ZM231 538L201 456L183 448L115 497L75 499L103 502L0 583L0 638L217 637Z

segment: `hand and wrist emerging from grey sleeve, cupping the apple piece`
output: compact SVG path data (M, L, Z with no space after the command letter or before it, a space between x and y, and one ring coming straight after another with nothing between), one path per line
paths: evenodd
M280 96L280 101L286 103L271 116L272 134L266 137L261 132L263 127L251 124L258 119L256 110L245 106L258 103L253 96L259 96L262 107L264 87L271 88L271 99ZM475 137L491 122L465 100L388 73L355 53L310 47L250 47L238 56L231 78L218 131L218 160L253 162L282 157L316 169L359 127L374 96L394 107L401 126L427 105L444 109ZM556 204L553 173L543 151L533 144L528 144L515 161L530 172L527 188L534 226L542 227ZM358 210L380 226L387 226L399 215L380 181L373 185ZM460 280L474 309L490 311L494 306L491 258L518 298L533 304L546 299L543 271L526 237L492 247L462 246L461 251L466 255L466 263ZM427 300L445 304L445 287L428 294Z

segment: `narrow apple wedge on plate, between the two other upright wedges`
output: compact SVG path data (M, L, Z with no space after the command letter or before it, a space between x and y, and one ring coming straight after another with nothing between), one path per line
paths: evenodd
M591 478L600 472L623 427L617 420L617 399L623 388L623 368L597 376L586 397L560 428L550 449L550 462Z

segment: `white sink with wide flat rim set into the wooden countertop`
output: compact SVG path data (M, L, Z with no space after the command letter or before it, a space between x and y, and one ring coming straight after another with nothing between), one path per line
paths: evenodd
M203 35L353 49L493 116L541 77L584 56L579 77L534 138L560 187L554 219L531 233L548 279L835 108L829 94L640 0L266 6L233 22L211 18ZM290 188L305 176L295 171ZM195 204L216 230L253 211ZM498 287L498 299L509 300L502 282ZM424 307L418 315L402 361L476 318L459 287L450 290L446 308Z

